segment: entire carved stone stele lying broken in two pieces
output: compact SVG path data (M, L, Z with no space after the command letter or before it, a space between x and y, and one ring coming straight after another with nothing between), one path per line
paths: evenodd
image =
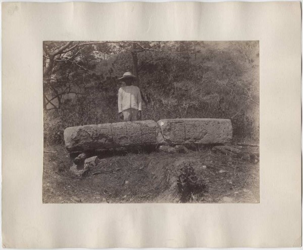
M232 139L229 119L162 119L70 127L64 131L69 152L126 146L216 144Z

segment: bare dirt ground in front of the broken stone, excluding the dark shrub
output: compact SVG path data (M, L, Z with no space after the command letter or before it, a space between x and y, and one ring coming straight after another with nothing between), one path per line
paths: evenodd
M45 148L43 203L179 203L177 179L184 163L190 163L205 184L188 202L258 203L260 199L259 162L211 147L173 154L112 151L99 158L97 166L78 179L69 172L72 157L63 146ZM96 171L108 173L92 175Z

